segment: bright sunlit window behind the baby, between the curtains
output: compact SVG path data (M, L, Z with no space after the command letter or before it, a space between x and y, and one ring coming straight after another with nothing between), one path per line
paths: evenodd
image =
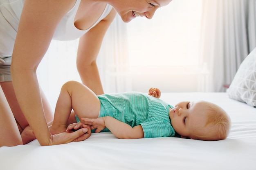
M153 19L137 17L127 24L132 90L145 91L149 84L160 86L162 92L201 91L200 82L205 81L198 55L201 7L202 0L173 0Z

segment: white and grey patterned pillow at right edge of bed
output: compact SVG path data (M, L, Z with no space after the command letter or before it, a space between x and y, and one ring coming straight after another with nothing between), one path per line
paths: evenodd
M256 107L256 48L239 66L227 93L229 98Z

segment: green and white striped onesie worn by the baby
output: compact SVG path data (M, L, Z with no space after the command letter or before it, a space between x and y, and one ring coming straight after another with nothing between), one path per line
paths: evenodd
M111 116L134 127L141 125L144 138L173 137L168 105L163 100L139 92L103 94L98 96L101 102L99 117ZM79 122L79 119L78 119ZM101 132L109 131L107 128Z

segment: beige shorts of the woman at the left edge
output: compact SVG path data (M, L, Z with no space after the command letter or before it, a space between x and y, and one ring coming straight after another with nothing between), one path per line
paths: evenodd
M11 81L11 57L0 58L0 82Z

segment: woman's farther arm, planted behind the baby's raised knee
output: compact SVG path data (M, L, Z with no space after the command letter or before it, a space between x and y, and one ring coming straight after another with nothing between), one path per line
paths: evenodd
M79 39L76 59L77 70L83 84L89 87L97 95L104 94L104 92L96 59L101 48L103 37L115 18L115 15L116 11L115 9L112 9L104 20L101 20L101 22Z

